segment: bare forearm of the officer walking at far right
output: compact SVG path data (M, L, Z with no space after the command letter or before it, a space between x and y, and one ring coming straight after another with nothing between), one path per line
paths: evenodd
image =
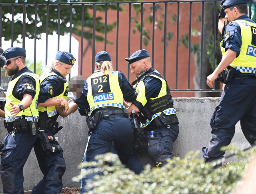
M225 68L227 68L233 60L236 58L237 53L230 48L226 51L226 54L223 56L220 64L218 67L214 70L214 74L220 74Z

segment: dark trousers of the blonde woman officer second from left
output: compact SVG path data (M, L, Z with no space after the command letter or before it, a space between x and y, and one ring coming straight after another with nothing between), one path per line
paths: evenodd
M48 132L48 135L53 136L52 132ZM66 171L66 163L63 158L63 152L61 151L47 154L46 151L42 149L40 139L37 139L36 143L34 144L34 151L40 170L44 174L44 177L33 188L31 194L61 193L63 187L62 176Z

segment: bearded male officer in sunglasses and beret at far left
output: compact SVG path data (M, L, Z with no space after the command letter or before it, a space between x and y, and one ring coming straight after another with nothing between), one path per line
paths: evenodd
M23 194L23 167L37 140L39 76L26 67L26 50L11 47L2 53L8 84L4 125L8 130L1 154L4 193Z

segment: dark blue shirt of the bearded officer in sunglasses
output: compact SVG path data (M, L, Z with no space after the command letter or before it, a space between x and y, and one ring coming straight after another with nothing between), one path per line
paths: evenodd
M24 67L12 77L11 81L26 72L34 74L34 72L30 71L27 67ZM32 84L33 88L26 88L26 83ZM12 95L20 101L23 99L24 94L31 95L33 99L36 95L36 81L28 75L21 76L12 90Z

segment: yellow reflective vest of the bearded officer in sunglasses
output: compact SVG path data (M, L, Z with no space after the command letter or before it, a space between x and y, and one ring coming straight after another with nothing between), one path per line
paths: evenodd
M18 100L17 98L15 98L12 95L12 91L14 89L14 86L16 85L16 83L18 82L18 80L20 79L21 76L23 75L28 75L30 77L32 77L35 81L36 81L36 94L32 100L32 104L30 105L30 108L28 107L27 109L19 112L16 116L12 116L12 114L10 113L10 110L12 108L12 105L10 104L10 102L14 103L14 104L20 104L21 100ZM6 105L4 108L5 111L5 120L6 122L13 122L15 120L15 117L21 117L22 115L25 116L25 118L27 120L32 120L32 114L34 116L34 118L38 117L38 94L40 92L40 82L39 82L39 76L38 74L33 74L30 72L25 72L23 74L21 74L20 76L18 76L17 78L15 78L14 80L11 80L8 84L8 89L6 92ZM32 114L31 114L32 112Z

